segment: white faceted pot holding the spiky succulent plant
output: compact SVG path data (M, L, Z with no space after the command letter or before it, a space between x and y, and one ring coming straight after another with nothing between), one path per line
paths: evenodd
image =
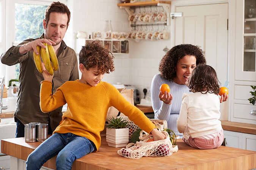
M129 128L107 128L106 140L108 146L115 148L125 147L129 142Z

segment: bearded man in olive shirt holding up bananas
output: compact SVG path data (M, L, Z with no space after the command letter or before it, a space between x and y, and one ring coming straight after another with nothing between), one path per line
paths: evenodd
M17 46L12 46L1 56L1 61L6 65L19 65L20 89L14 113L14 120L17 122L16 138L24 137L24 124L30 122L47 123L49 134L59 125L62 116L62 107L49 113L43 113L40 109L40 85L44 77L36 68L33 59L33 52L39 54L36 46L43 45L43 42L53 45L57 54L59 68L54 72L52 80L52 93L58 87L69 80L79 79L78 63L75 51L63 41L69 26L70 11L66 5L60 2L53 2L45 12L43 27L44 33L36 39L24 40Z

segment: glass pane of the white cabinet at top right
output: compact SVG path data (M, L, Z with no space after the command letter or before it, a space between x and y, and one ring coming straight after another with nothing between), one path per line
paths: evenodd
M243 71L255 71L256 1L244 2Z

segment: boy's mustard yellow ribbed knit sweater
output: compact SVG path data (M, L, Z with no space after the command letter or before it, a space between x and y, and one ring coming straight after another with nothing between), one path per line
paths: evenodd
M96 87L79 82L64 83L52 95L52 82L42 81L40 107L45 113L68 104L63 113L63 123L53 133L73 133L84 136L96 145L101 145L100 133L104 129L110 106L129 117L142 130L150 133L155 125L135 106L130 104L119 91L107 82Z

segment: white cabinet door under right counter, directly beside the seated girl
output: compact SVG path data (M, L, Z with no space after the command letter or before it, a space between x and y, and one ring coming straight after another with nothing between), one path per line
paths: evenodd
M226 146L242 149L242 133L224 130L224 138L226 138Z

